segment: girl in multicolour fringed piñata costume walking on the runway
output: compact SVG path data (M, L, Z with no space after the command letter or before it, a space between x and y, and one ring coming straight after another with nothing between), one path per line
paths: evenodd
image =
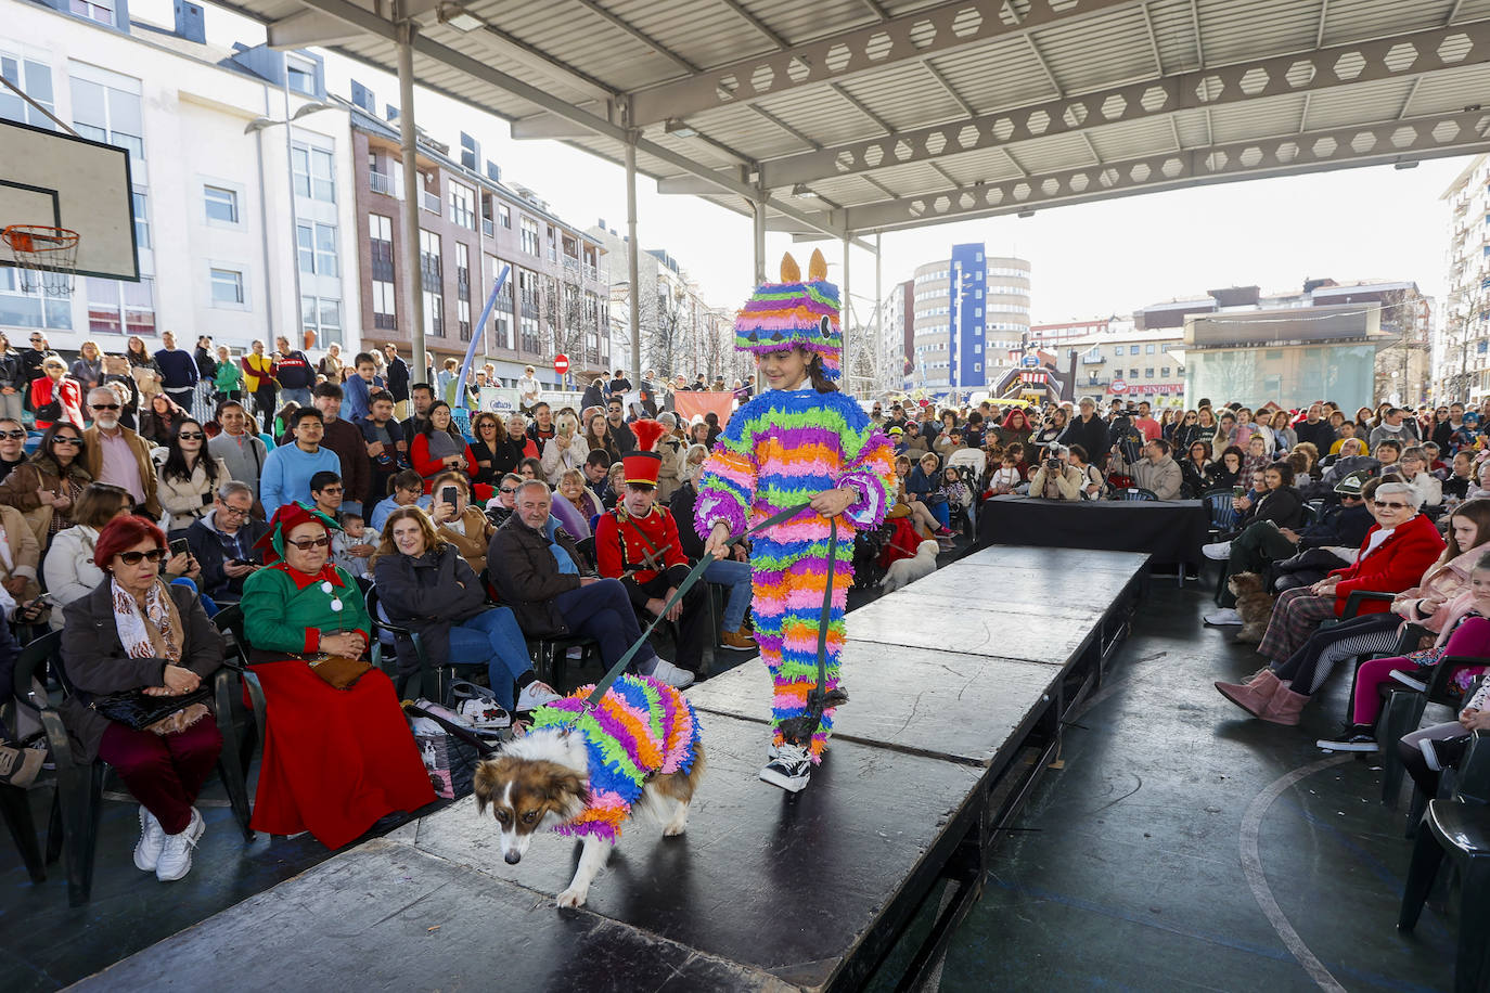
M781 280L758 287L735 319L735 347L755 354L763 392L735 411L703 463L694 518L706 551L723 557L746 527L812 505L755 534L751 546L755 642L775 683L770 761L760 777L796 792L808 785L833 731L833 707L821 712L821 721L817 709L845 698L837 691L839 652L854 534L884 521L894 493L894 456L864 408L831 383L839 378L843 335L839 292L827 281L822 253L812 253L806 281L785 256ZM828 518L837 518L831 561ZM811 700L830 573L828 695Z

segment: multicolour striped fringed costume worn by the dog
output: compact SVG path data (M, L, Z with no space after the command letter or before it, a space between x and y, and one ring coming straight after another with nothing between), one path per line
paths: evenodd
M647 780L687 773L699 749L693 704L672 686L647 676L621 676L587 712L590 686L533 712L533 729L571 725L584 734L590 758L590 802L559 834L595 835L612 844Z

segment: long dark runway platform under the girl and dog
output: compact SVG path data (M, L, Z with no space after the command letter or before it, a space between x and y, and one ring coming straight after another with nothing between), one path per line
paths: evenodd
M767 680L751 662L688 692L709 773L688 834L638 822L578 911L553 895L580 846L501 861L471 799L332 858L89 978L153 989L858 989L927 895L960 883L912 954L933 962L991 843L1101 679L1146 557L991 548L855 610L852 703L812 785L757 779ZM1052 596L1082 573L1079 604ZM231 963L224 969L222 963Z

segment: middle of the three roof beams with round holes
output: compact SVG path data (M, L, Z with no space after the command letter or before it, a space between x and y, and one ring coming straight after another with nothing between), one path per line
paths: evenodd
M1468 57L1460 57L1460 61L1447 63L1438 52L1444 40L1456 34L1468 36L1474 48ZM1417 57L1405 64L1393 58L1389 66L1387 52L1402 43L1413 45ZM1462 49L1445 51L1454 55ZM1359 55L1365 64L1359 74L1341 77L1335 73L1335 64L1347 55ZM1490 63L1490 21L1174 73L1150 82L1043 100L949 124L800 152L761 162L761 182L767 189L779 189L830 176L1001 147L1042 135L1173 115L1195 107L1210 109L1283 94L1308 94L1380 79L1411 79L1483 63ZM1354 66L1354 60L1351 58L1348 64Z

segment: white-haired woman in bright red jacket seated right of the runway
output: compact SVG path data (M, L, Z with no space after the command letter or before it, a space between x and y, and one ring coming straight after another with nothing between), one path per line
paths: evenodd
M1356 552L1356 561L1337 569L1313 587L1284 590L1272 607L1272 619L1258 651L1272 665L1259 670L1247 683L1216 683L1216 689L1253 716L1272 724L1295 725L1319 686L1310 667L1311 654L1301 652L1328 618L1338 618L1354 590L1402 593L1413 587L1444 552L1444 539L1424 515L1417 512L1416 493L1405 482L1383 482L1372 497L1375 526ZM1366 600L1360 613L1383 613L1381 601ZM1317 657L1314 657L1317 662ZM1290 664L1292 662L1292 664ZM1281 676L1280 676L1281 673ZM1328 674L1328 673L1326 673ZM1280 680L1287 679L1284 686ZM1298 689L1292 689L1292 685Z

